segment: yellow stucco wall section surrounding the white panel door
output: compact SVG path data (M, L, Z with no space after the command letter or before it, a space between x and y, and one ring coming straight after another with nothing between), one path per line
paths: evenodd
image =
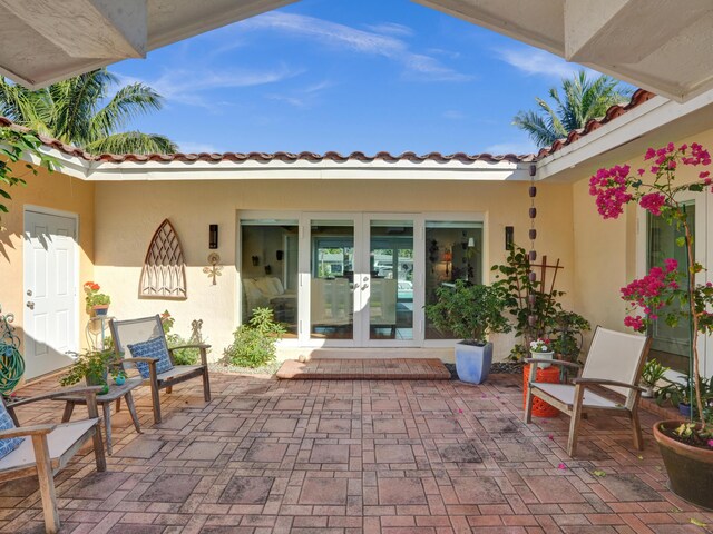
M48 172L38 169L25 176L27 187L12 187L9 192L12 200L7 202L9 214L2 216L2 226L7 230L0 233L0 304L3 313L13 313L14 325L22 332L22 316L26 296L23 295L22 233L23 208L26 205L45 207L79 215L79 280L81 284L94 277L94 192L91 182L71 178L61 172ZM78 295L80 309L80 327L87 322L82 295ZM85 343L84 336L80 342Z

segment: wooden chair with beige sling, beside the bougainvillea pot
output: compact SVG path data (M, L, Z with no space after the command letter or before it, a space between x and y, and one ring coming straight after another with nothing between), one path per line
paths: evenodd
M634 446L641 451L644 448L644 442L638 422L638 399L643 388L639 387L638 380L649 347L651 338L597 327L584 369L578 364L559 359L527 358L526 362L530 364L530 377L525 422L533 421L533 397L541 398L567 414L572 418L567 454L574 456L577 453L577 432L583 415L593 412L615 416L625 414L632 422ZM572 384L536 383L537 368L544 363L576 368L578 377L573 379ZM592 386L624 395L625 400L623 404L612 400L592 390Z

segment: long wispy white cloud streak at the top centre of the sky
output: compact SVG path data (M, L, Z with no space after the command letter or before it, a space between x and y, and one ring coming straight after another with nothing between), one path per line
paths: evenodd
M243 30L273 30L319 41L335 49L381 56L401 63L411 78L431 81L463 81L471 77L460 73L437 59L413 52L401 39L373 31L303 14L270 12L238 24Z

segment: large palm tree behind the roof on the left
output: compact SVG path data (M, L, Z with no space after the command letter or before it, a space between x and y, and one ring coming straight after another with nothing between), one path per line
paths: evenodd
M0 115L90 154L170 154L176 144L165 136L120 131L133 119L157 111L163 97L144 83L119 87L106 69L30 91L0 77Z

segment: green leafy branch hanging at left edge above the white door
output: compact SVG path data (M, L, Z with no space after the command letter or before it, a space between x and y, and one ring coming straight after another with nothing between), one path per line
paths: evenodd
M21 162L27 155L32 155L39 159L39 166L45 167L50 172L59 168L57 160L43 154L40 148L40 141L37 134L10 127L0 127L0 212L9 212L6 200L12 197L8 189L13 186L25 186L27 181L25 177L28 174L37 176L37 168L30 164ZM25 172L18 171L18 166L25 169ZM1 220L1 218L0 218ZM0 230L4 228L0 227Z

